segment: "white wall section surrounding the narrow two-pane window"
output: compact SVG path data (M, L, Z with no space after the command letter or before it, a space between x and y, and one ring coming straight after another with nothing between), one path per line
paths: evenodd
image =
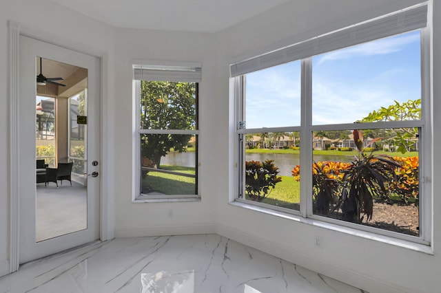
M214 210L212 191L215 178L207 178L216 159L210 155L218 144L210 133L218 132L213 119L218 115L213 108L216 79L216 47L212 34L183 32L157 32L119 29L115 32L115 72L118 83L114 88L116 98L115 166L114 188L116 196L115 236L176 235L214 232ZM187 61L203 64L202 83L199 89L200 116L198 160L202 174L199 181L202 199L200 202L132 203L132 151L134 121L132 104L132 64L144 61ZM168 211L172 210L173 217ZM130 215L130 217L128 216Z

